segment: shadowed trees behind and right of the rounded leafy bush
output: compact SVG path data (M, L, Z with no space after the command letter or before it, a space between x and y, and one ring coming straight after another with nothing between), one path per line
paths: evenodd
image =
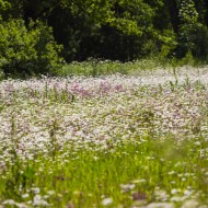
M69 62L186 54L208 59L208 0L0 0L2 28L11 20L23 21L28 33L45 25Z

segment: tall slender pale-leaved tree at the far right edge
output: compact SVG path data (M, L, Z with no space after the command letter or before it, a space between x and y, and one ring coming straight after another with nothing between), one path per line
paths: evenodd
M198 7L196 4L193 0L181 2L177 53L182 58L193 56L190 59L207 60L208 27L204 24L205 8L201 8L203 3L200 3L200 7L199 2Z

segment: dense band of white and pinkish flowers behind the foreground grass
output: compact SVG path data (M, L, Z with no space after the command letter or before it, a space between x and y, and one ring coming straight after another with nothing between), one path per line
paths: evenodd
M151 134L208 135L206 69L0 83L0 165L73 149L106 149ZM188 76L189 77L188 77ZM201 157L206 157L206 150ZM63 160L62 160L63 161Z

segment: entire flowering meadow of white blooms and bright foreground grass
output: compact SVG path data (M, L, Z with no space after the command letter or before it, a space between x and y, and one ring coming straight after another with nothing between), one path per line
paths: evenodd
M208 207L208 69L0 82L0 207Z

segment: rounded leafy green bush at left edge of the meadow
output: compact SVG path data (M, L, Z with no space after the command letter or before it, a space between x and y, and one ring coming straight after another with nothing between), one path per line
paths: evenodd
M0 69L7 77L55 74L62 59L58 56L51 28L41 22L23 20L0 23Z

